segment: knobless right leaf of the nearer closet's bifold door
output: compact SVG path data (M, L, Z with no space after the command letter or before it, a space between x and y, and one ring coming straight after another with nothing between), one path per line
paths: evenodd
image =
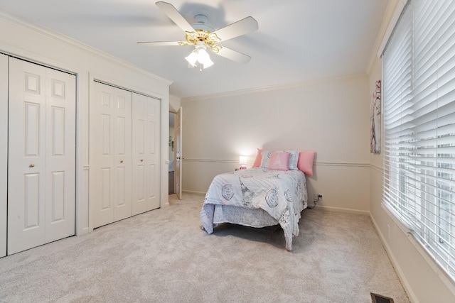
M75 234L75 76L47 70L46 232L51 242Z

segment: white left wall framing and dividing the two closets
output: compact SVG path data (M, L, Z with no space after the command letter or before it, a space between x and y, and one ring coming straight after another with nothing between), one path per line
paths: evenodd
M58 33L0 13L0 53L15 55L77 75L76 233L92 229L89 189L89 99L93 79L158 97L161 102L161 206L168 204L168 86L166 79L82 45Z

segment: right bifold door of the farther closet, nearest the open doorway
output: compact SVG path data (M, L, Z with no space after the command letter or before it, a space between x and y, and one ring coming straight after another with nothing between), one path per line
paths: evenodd
M159 114L159 100L133 93L133 215L160 206Z

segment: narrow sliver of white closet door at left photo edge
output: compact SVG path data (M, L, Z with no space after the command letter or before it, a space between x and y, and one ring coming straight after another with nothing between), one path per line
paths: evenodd
M8 56L0 54L0 257L6 255L8 175Z

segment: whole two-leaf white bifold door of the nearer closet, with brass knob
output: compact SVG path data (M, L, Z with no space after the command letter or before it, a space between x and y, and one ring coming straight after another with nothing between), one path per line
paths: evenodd
M9 62L11 254L75 234L75 76Z

